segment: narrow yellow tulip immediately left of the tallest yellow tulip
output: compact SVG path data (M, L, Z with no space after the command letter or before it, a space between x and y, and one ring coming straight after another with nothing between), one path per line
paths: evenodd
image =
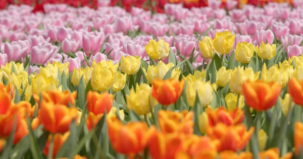
M214 57L214 45L213 39L205 36L201 41L199 41L200 52L205 58L213 58Z

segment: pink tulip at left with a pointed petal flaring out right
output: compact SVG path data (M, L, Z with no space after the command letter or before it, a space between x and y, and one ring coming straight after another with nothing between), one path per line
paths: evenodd
M31 49L30 61L36 65L42 65L47 62L49 58L51 58L57 51L57 47L53 49L49 49L47 47L42 46L34 46Z

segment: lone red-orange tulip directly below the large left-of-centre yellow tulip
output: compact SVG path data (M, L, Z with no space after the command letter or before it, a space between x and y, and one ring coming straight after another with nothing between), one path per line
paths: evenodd
M87 109L94 115L98 115L111 110L114 96L109 93L99 94L98 92L89 91L86 96Z

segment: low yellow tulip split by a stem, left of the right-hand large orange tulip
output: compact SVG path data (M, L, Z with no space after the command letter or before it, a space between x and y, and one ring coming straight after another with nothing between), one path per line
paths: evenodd
M229 93L225 96L224 100L227 106L228 111L232 111L235 108L237 108L237 98L239 95L235 95L233 93ZM239 109L242 109L244 107L244 98L242 95L239 97Z

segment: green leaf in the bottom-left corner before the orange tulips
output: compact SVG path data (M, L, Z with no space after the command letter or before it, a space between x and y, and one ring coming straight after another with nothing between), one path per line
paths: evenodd
M14 124L13 124L13 128L12 128L12 132L11 132L9 138L6 140L6 143L3 147L0 158L9 158L9 156L11 155L11 151L13 149L14 136L15 136L16 128L17 128L17 117L16 116L14 117L13 123Z

